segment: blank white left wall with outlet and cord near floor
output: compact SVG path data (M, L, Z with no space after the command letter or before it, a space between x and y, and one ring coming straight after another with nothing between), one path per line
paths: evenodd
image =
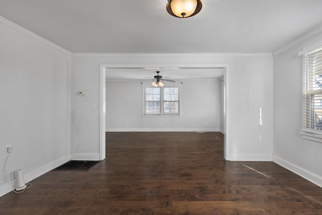
M71 61L58 50L0 17L0 196L16 170L30 181L69 158Z

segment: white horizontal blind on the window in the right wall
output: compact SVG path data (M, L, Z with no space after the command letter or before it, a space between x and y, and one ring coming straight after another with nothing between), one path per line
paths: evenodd
M303 55L302 129L322 133L322 48Z

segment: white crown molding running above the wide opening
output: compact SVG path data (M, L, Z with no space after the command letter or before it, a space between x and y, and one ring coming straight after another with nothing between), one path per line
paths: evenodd
M73 58L124 58L124 57L272 57L272 53L72 53Z

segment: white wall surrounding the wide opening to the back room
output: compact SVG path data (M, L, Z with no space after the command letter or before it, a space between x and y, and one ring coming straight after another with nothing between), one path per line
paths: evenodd
M91 106L99 104L100 64L227 64L230 160L272 160L271 54L73 54L72 154L99 157L99 110L93 110ZM87 98L77 96L81 89L89 90Z

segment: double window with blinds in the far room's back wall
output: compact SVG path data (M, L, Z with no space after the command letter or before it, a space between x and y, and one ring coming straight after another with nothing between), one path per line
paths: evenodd
M143 115L179 115L180 87L143 87Z

